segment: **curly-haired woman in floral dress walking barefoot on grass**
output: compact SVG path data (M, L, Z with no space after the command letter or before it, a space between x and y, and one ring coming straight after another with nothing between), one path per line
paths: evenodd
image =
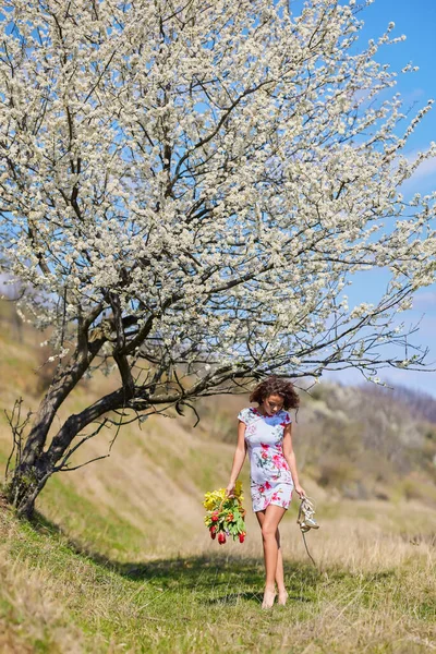
M288 598L278 525L289 507L293 488L300 498L305 496L299 483L288 413L288 409L298 408L300 400L290 382L269 377L253 390L250 401L257 402L258 409L250 407L238 415L238 445L227 494L233 494L249 451L253 511L261 525L264 545L266 580L262 608L270 608L276 598L275 582L278 603L284 605Z

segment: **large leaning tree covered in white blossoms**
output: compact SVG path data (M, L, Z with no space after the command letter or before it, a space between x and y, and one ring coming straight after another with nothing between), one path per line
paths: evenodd
M355 0L292 8L2 2L1 266L58 362L13 424L20 512L110 416L271 373L423 363L380 343L404 344L396 313L434 279L434 196L400 193L435 154L401 154L431 102L407 118L386 93L392 24L359 47ZM387 287L349 308L346 284L371 268ZM55 423L110 366L119 388Z

